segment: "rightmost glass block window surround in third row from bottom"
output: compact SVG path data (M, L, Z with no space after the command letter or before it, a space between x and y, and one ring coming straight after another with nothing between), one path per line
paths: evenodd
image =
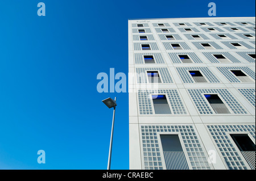
M255 81L255 72L245 66L226 66L217 67L217 69L220 70L220 72L229 80L229 82L241 82L240 79L238 79L230 70L243 70Z

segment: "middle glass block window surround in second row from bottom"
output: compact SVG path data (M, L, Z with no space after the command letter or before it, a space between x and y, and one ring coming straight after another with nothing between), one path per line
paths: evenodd
M230 94L226 89L188 89L197 110L202 115L213 114L208 100L205 98L204 94L218 94L224 100L226 106L228 106L233 113L243 114L247 113L245 109L237 102L237 100Z

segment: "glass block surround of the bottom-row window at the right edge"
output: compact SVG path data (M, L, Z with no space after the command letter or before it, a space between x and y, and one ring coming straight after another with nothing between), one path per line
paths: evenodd
M208 132L214 140L214 144L219 149L222 157L230 170L247 170L245 159L228 132L249 132L255 139L255 125L235 124L235 125L207 125Z

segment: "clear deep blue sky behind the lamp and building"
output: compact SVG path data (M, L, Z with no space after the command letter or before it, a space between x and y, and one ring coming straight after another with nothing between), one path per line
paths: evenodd
M46 4L38 16L37 4ZM255 16L255 1L0 2L0 169L129 169L127 93L98 93L96 77L128 71L127 20ZM38 164L38 150L46 163Z

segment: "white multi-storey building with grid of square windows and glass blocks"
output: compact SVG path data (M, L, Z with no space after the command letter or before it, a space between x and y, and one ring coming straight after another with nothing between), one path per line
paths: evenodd
M129 20L130 169L255 169L255 18Z

